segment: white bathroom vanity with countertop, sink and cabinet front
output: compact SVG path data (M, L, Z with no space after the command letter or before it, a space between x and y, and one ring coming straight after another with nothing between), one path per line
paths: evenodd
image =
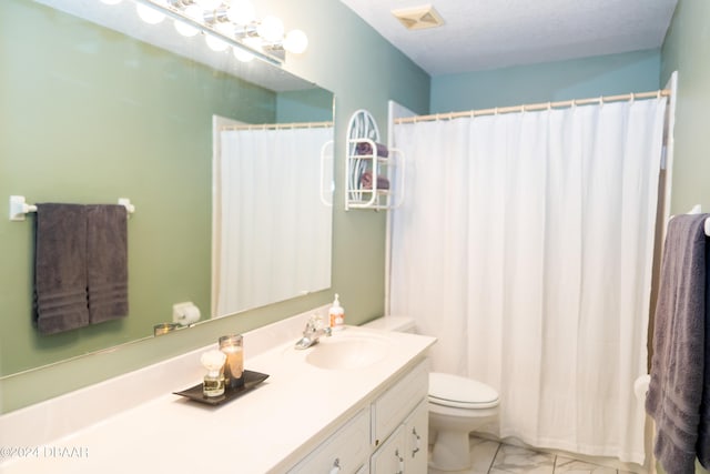
M270 376L219 406L172 393L209 346L0 416L0 471L426 473L435 339L348 326L296 351L308 315L244 334L245 369Z

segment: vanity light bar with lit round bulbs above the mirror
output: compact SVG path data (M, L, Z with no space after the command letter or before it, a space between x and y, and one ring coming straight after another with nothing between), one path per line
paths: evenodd
M101 0L108 4L121 0ZM134 0L139 17L149 24L158 24L165 17L175 22L184 37L203 33L214 51L232 49L240 61L255 57L280 64L285 51L301 54L308 46L302 30L285 33L281 19L267 16L256 19L248 0Z

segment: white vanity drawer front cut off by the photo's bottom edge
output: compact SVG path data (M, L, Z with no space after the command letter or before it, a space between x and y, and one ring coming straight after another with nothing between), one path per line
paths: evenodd
M302 474L359 473L363 465L367 465L369 458L368 433L369 410L363 409L288 472Z

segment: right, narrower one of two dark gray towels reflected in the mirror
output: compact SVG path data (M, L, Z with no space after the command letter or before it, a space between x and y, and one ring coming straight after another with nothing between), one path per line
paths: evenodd
M128 214L123 205L87 205L91 324L128 315Z

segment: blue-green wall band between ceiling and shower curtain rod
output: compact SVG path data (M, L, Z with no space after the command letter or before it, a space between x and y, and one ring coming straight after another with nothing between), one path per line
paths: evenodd
M439 75L430 113L520 105L658 89L660 51Z

